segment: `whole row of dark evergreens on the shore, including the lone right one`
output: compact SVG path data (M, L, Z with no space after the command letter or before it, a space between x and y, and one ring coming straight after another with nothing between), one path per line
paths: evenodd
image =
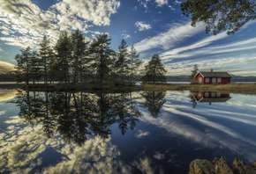
M15 56L17 67L16 81L33 82L43 79L44 83L65 83L71 88L75 83L135 81L142 61L135 47L128 47L121 41L118 51L109 48L108 34L101 34L94 40L86 41L79 31L61 33L55 46L44 36L38 51L31 47L22 48ZM166 70L158 54L154 54L141 71L141 80L146 83L165 82Z

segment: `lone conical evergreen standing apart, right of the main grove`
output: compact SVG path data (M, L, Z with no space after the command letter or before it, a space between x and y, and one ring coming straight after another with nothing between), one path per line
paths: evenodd
M154 54L151 57L151 60L145 66L144 76L142 76L141 80L146 83L157 83L157 82L166 82L165 73L167 71L164 69L162 65L161 58L159 54Z

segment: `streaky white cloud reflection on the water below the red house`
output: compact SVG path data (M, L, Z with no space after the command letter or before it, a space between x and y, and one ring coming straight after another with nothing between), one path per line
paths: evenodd
M243 134L233 124L242 124L240 127L255 126L255 114L245 113L245 117L243 112L227 112L222 104L216 106L215 112L213 105L202 105L192 110L187 102L188 95L189 92L179 93L177 99L177 92L168 91L162 115L154 120L147 112L143 112L144 117L141 120L166 129L170 136L182 135L185 139L210 149L227 148L253 162L256 153L252 149L255 148L256 141L247 137L247 134Z

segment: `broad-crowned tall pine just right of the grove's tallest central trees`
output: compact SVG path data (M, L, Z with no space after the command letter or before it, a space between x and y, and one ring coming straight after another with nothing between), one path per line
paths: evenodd
M94 39L90 46L90 58L92 61L90 67L96 72L101 83L111 71L109 65L111 64L111 56L114 54L114 51L109 48L109 45L109 35L101 34Z

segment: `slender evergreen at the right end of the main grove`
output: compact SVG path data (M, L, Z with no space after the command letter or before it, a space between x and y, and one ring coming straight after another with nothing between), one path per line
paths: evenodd
M138 71L142 61L139 60L139 54L137 54L137 50L135 49L134 46L131 47L129 56L130 56L130 85L131 85L132 82L134 81L134 75L136 75L136 72Z

